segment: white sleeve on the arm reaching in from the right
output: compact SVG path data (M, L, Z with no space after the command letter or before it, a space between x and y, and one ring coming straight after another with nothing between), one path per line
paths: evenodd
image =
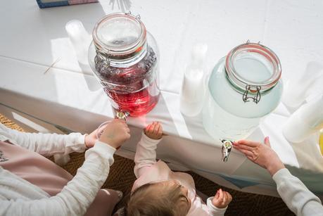
M286 168L279 170L272 179L277 184L279 195L296 215L323 215L323 206L319 198L289 170Z

